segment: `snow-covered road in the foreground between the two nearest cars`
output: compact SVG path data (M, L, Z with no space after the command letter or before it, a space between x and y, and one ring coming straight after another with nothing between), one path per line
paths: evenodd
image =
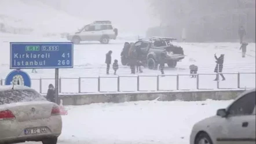
M231 102L138 101L68 106L58 143L188 144L193 124Z

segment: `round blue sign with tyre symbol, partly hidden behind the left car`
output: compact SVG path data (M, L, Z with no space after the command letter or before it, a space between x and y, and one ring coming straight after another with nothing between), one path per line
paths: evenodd
M27 72L14 70L5 79L5 85L20 85L31 87L31 79Z

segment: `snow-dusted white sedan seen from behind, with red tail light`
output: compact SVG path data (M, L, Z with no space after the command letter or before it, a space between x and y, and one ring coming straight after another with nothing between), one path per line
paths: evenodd
M56 144L62 130L60 109L32 88L0 86L0 143Z

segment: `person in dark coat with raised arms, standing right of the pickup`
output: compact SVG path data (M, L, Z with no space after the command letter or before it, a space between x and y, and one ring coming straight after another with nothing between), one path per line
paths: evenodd
M216 67L214 69L214 72L216 72L217 75L216 75L216 79L214 79L214 80L219 80L219 74L221 75L222 80L225 80L224 75L221 73L222 69L223 69L223 63L224 63L224 54L221 54L220 57L217 57L216 54L214 54L214 57L216 59L215 62L217 63Z

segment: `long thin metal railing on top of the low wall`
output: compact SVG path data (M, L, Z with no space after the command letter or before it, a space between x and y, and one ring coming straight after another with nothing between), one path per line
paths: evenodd
M199 73L195 75L196 78L190 78L192 75L60 77L59 92L74 94L132 91L214 90L255 87L255 72L223 74L225 77L227 77L225 81L221 81L221 76L219 76L220 81L213 81L213 79L215 79L216 73ZM143 80L145 77L148 77L148 79ZM185 79L182 79L184 77ZM64 83L65 80L67 81L66 83ZM87 84L83 84L83 82L88 82L89 80L93 81ZM104 80L107 80L108 82L104 82ZM129 80L133 82L129 83ZM4 81L4 79L0 79L0 85L3 85ZM32 88L41 94L47 93L47 88L50 83L54 84L54 78L31 79L31 81ZM125 88L123 88L123 86ZM150 86L153 88L150 89ZM163 88L163 86L167 86L167 88ZM133 87L133 90L123 90L127 89L128 87ZM86 88L89 90L84 90ZM113 88L115 90L111 90Z

